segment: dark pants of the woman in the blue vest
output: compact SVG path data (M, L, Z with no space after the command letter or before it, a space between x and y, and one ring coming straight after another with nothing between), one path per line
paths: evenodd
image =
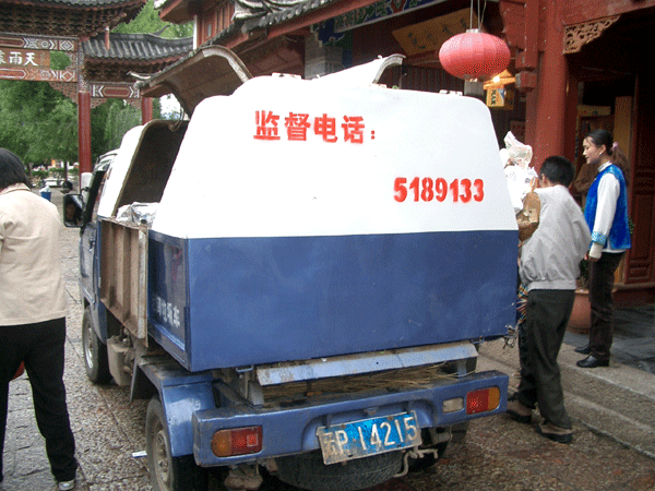
M590 302L592 304L592 325L590 328L590 348L598 360L609 360L614 339L614 275L623 253L604 252L596 262L590 262Z

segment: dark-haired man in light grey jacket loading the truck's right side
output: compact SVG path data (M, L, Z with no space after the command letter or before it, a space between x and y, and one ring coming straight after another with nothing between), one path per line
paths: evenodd
M560 443L570 443L573 436L557 357L573 309L580 262L592 237L568 189L573 176L573 165L559 156L548 157L539 169L535 190L539 225L523 243L519 262L521 282L527 289L519 346L521 382L508 404L508 415L525 423L538 405L546 421L537 431Z

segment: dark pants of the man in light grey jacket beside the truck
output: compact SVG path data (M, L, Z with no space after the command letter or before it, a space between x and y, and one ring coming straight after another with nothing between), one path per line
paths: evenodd
M521 382L516 398L556 427L571 429L564 409L559 355L573 310L573 290L532 290L527 295L525 322L521 326L519 356Z

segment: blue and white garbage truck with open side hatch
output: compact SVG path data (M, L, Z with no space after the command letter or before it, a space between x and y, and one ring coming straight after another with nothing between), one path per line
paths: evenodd
M491 117L381 85L402 61L252 77L201 48L147 82L190 117L130 130L64 196L86 374L150 398L153 489L212 468L229 489L364 489L505 410L508 376L476 371L515 323Z

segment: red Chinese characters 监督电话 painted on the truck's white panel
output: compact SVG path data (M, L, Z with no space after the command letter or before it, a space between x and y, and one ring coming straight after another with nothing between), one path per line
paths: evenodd
M306 142L309 134L322 137L323 142L361 144L366 137L364 117L344 116L340 120L326 113L310 117L308 113L289 112L281 120L273 111L254 111L254 140L276 141L283 137L289 142ZM376 132L370 132L376 139Z

